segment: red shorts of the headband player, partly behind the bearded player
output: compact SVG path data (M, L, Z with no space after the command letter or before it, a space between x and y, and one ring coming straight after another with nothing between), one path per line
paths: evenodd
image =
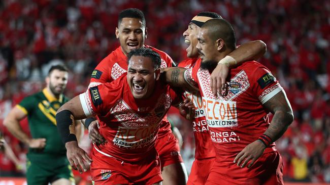
M187 185L204 185L214 160L215 157L202 160L195 159L191 166Z

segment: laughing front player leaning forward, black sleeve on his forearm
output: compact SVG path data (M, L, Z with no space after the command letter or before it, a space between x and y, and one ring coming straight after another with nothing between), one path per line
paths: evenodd
M95 184L158 184L162 180L154 143L162 117L181 97L158 80L160 64L159 55L151 49L134 50L128 55L127 75L91 86L58 110L58 131L71 165L79 171L87 169L91 159L78 147L72 119L97 116L108 143L92 151ZM192 107L192 103L186 105Z

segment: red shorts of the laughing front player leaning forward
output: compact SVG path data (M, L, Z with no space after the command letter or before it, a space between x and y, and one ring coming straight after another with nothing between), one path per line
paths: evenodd
M156 151L138 162L123 162L92 150L91 175L98 184L154 184L162 181Z

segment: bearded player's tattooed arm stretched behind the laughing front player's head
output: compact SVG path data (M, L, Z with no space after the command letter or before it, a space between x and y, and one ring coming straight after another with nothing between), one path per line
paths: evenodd
M161 69L161 80L170 84L173 87L181 87L186 91L196 91L196 87L188 83L184 78L185 68L182 67L168 67Z

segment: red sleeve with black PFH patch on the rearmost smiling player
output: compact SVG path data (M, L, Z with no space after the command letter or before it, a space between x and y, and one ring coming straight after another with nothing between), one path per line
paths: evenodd
M109 70L109 56L104 58L93 70L88 87L96 86L101 83L111 82Z

